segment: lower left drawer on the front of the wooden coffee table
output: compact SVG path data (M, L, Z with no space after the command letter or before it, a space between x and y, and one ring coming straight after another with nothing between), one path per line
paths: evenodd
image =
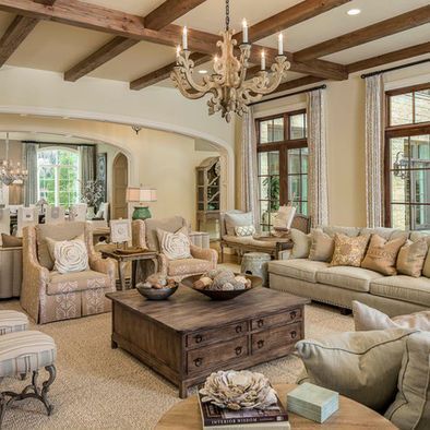
M248 337L242 336L222 344L193 349L187 353L188 373L201 372L214 365L248 356Z

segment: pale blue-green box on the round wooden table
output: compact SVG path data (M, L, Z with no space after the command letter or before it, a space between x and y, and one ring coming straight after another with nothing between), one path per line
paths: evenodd
M339 394L304 382L287 394L288 411L324 422L339 408Z

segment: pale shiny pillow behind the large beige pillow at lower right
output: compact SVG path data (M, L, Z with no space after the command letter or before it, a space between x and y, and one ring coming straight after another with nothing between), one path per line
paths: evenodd
M385 329L417 329L430 332L430 311L390 318L378 309L354 300L353 313L357 332Z

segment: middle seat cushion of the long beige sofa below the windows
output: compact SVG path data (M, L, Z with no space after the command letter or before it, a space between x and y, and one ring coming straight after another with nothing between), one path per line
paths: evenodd
M353 266L327 267L316 273L316 280L320 284L365 292L369 292L372 280L380 278L380 273Z

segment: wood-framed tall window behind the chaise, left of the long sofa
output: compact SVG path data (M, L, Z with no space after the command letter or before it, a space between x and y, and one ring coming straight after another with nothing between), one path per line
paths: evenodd
M261 228L268 231L279 205L295 196L308 214L308 141L306 111L256 120Z

